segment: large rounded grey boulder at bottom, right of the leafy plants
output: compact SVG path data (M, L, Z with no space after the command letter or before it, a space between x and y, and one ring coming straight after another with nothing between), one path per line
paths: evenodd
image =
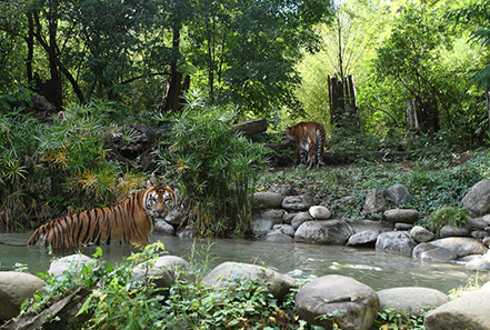
M379 298L374 290L351 278L324 276L301 287L296 296L296 311L309 324L332 329L329 318L342 330L367 330L378 316ZM341 314L337 314L340 312Z

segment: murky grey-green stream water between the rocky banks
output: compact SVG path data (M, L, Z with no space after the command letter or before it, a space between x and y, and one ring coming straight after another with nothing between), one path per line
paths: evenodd
M26 233L0 233L0 241L24 244L30 237ZM306 243L270 243L242 239L191 240L177 237L156 236L171 256L190 259L194 251L194 263L203 264L209 251L211 260L208 271L226 261L256 263L272 268L293 278L342 274L351 277L374 290L396 287L426 287L444 293L453 288L466 286L476 274L463 266L452 263L429 263L410 257L378 252L374 249L357 249L339 246ZM96 247L80 248L79 251L91 257ZM112 264L131 254L129 244L103 246L103 258ZM32 273L48 270L53 257L71 254L64 251L50 256L48 249L36 247L0 246L1 270L13 270L16 262L26 263ZM479 274L483 281L488 274Z

